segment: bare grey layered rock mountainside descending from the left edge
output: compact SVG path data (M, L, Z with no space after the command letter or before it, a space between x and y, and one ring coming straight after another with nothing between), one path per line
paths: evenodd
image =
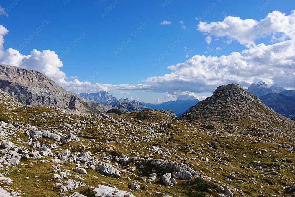
M65 91L40 72L4 64L0 65L0 89L22 105L51 106L82 114L106 112L112 108Z

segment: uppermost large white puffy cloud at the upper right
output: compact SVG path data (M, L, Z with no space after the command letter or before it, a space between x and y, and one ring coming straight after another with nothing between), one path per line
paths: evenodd
M294 10L288 16L285 13L273 11L260 21L253 19L242 20L233 16L228 16L219 22L207 23L200 21L198 30L210 34L206 38L207 40L209 40L210 36L227 37L228 42L237 40L249 48L255 46L255 40L267 36L271 36L273 42L294 39L294 21Z

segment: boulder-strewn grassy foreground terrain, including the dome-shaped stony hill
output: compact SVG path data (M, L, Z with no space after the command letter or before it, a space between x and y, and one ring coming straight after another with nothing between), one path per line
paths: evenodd
M180 121L155 110L81 115L40 105L0 117L10 121L0 121L0 170L9 169L0 196L295 193L294 121L238 84L218 87Z

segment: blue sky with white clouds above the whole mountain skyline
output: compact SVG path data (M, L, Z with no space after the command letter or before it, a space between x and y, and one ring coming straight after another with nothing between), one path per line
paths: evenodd
M283 58L289 60L285 67L273 65L283 74L274 74L278 71L249 74L272 68L267 67L267 58L254 65L257 57L251 50L271 54L271 50L276 51L271 46L279 44L291 45L293 49L294 0L2 0L0 6L0 25L9 31L0 31L5 40L2 50L6 54L0 56L0 62L41 71L73 92L106 90L119 98L156 103L175 100L186 93L202 99L211 95L217 86L231 82L247 87L251 82L264 80L268 84L281 82L279 85L290 89L295 87L294 81L290 84L286 81L294 78L293 51ZM105 12L108 8L110 11ZM266 19L270 13L289 20L286 24L290 30L272 25L272 31L268 31L266 22L259 26L260 19ZM229 26L227 29L222 24L210 25L225 19L228 19L224 22ZM250 21L253 28L247 29L247 19L257 24ZM205 22L203 26L201 22ZM232 35L228 31L231 28L240 35ZM285 43L288 40L291 44ZM261 43L269 47L262 47ZM122 51L118 50L121 45ZM8 51L9 48L19 53ZM233 60L233 52L243 57ZM227 58L202 59L202 55ZM13 59L16 56L18 59ZM240 65L224 66L224 61L238 64L241 59ZM201 67L196 62L201 63ZM245 71L239 67L243 64L253 64L259 69ZM278 60L278 64L284 63ZM201 70L203 67L206 69ZM210 70L214 76L209 76Z

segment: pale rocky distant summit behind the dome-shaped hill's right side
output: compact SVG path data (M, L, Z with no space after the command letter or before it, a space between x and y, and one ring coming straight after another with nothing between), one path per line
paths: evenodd
M286 89L278 86L273 85L271 87L268 87L268 85L262 81L258 83L251 84L248 89L246 89L248 92L253 93L254 95L260 97L269 93L280 93L285 91Z

